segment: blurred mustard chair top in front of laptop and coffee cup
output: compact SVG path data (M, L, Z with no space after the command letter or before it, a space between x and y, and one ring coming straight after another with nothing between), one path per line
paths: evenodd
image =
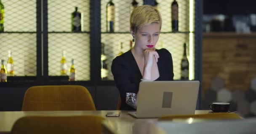
M172 120L172 119L243 119L235 113L208 113L208 114L193 114L193 115L174 115L174 116L162 116L158 120Z

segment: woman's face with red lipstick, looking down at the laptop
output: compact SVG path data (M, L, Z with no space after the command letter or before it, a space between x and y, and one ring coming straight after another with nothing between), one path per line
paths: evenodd
M135 47L139 47L143 50L155 49L155 45L159 39L160 34L160 24L159 23L151 23L147 26L142 26L138 29L135 36Z

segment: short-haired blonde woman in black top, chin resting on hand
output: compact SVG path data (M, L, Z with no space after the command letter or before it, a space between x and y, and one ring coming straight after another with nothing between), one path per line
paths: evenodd
M171 53L155 49L161 26L160 12L150 5L139 6L131 13L130 31L135 44L113 59L111 67L121 96L120 110L136 109L139 82L173 80Z

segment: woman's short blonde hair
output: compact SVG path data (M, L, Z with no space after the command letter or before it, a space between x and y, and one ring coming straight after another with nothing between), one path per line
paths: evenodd
M157 8L150 5L141 5L131 13L130 29L136 33L142 26L147 26L154 22L159 23L161 29L162 17Z

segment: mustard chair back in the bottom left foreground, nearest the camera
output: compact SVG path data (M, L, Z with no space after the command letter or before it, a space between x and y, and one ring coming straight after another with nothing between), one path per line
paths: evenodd
M11 134L101 134L101 116L25 116Z

